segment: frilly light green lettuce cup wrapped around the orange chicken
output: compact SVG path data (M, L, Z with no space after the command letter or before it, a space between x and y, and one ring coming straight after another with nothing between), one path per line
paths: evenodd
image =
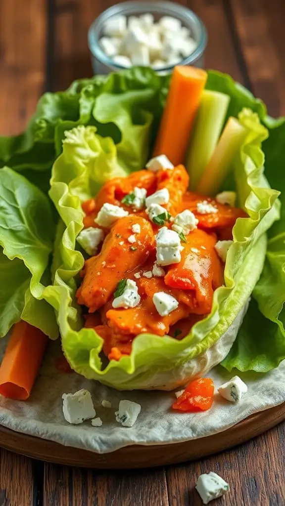
M217 75L223 81L223 76ZM209 73L209 79L213 79L212 73ZM224 79L228 81L227 76ZM249 104L247 100L242 100L239 85L233 86L237 89L234 88L232 94L227 91L231 97L230 110L240 113L243 105ZM262 104L258 104L255 109L260 107L263 110ZM75 284L79 282L77 274L84 263L81 252L76 249L76 237L82 229L83 219L81 196L93 196L92 179L84 180L82 192L80 163L78 159L74 160L70 176L66 170L66 146L63 144L63 153L53 166L50 190L51 199L65 224L59 242L61 265L55 272L54 300L64 353L79 373L117 389L168 388L165 372L170 376L170 371L175 370L179 384L189 360L205 351L210 353L245 306L263 268L265 232L279 217L279 192L269 187L263 174L261 142L267 136L266 129L260 124L258 115L248 110L243 110L239 119L248 129L248 135L234 160L232 184L235 184L240 204L249 218L238 219L234 227L234 244L225 267L226 286L215 291L210 315L194 325L182 341L167 336L161 339L153 334L139 335L134 340L130 357L124 357L119 362L111 361L105 368L100 357L102 339L93 329L81 328L75 300ZM78 154L79 151L76 156ZM72 163L71 158L69 162ZM70 318L70 310L73 310L73 318Z

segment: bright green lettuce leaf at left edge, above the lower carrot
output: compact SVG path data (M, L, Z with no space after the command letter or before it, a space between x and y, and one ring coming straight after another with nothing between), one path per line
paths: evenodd
M2 168L0 245L3 252L0 276L5 280L5 270L9 272L11 281L7 283L9 288L5 294L10 297L11 303L2 322L1 335L5 335L21 317L51 338L57 337L55 313L44 298L45 286L51 282L49 262L53 237L54 225L48 198L11 168ZM4 308L4 302L2 304Z

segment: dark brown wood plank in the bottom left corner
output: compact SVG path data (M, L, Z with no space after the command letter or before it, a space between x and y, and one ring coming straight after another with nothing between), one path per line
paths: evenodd
M33 461L0 448L0 506L31 506Z

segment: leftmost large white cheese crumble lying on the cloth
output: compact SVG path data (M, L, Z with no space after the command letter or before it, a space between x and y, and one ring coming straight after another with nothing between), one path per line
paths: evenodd
M63 416L69 424L82 424L84 420L96 416L88 390L79 390L75 394L63 394L62 399Z

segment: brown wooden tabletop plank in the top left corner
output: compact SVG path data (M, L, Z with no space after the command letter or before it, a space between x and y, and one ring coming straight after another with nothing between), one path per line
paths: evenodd
M0 135L21 132L43 92L46 19L45 0L0 2Z

